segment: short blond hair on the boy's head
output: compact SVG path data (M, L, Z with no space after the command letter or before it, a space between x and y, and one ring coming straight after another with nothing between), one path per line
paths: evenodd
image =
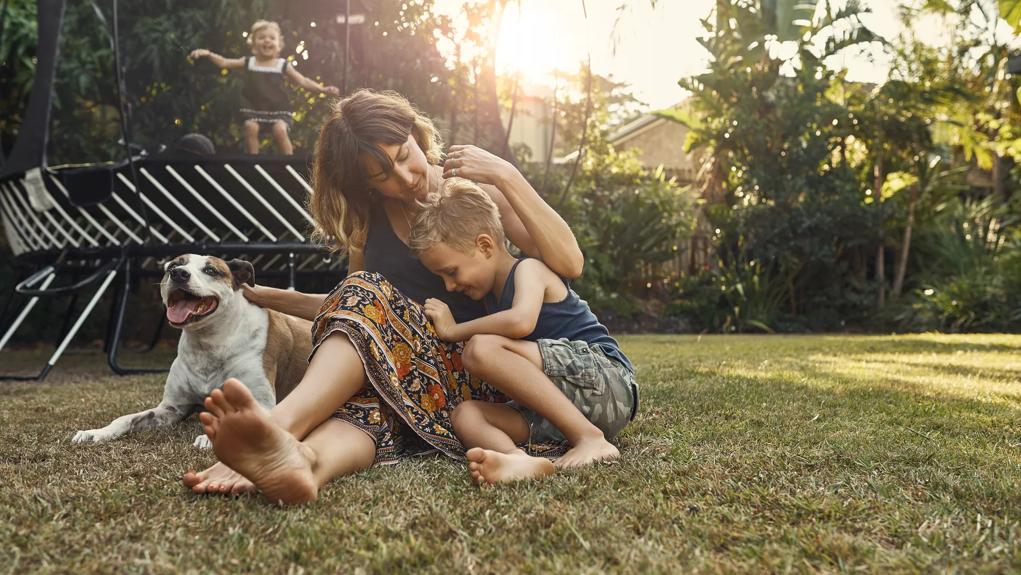
M444 183L437 199L430 202L415 219L408 247L418 255L443 242L471 253L479 234L488 234L497 245L503 245L500 210L489 194L475 183L451 178Z

